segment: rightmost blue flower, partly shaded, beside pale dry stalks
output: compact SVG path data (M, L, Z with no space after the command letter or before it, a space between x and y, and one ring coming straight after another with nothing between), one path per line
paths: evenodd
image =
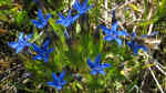
M134 41L136 33L133 32L132 40L127 42L128 46L133 50L133 53L137 54L139 49L142 49L144 52L148 52L148 49L145 45L139 45L136 41Z

